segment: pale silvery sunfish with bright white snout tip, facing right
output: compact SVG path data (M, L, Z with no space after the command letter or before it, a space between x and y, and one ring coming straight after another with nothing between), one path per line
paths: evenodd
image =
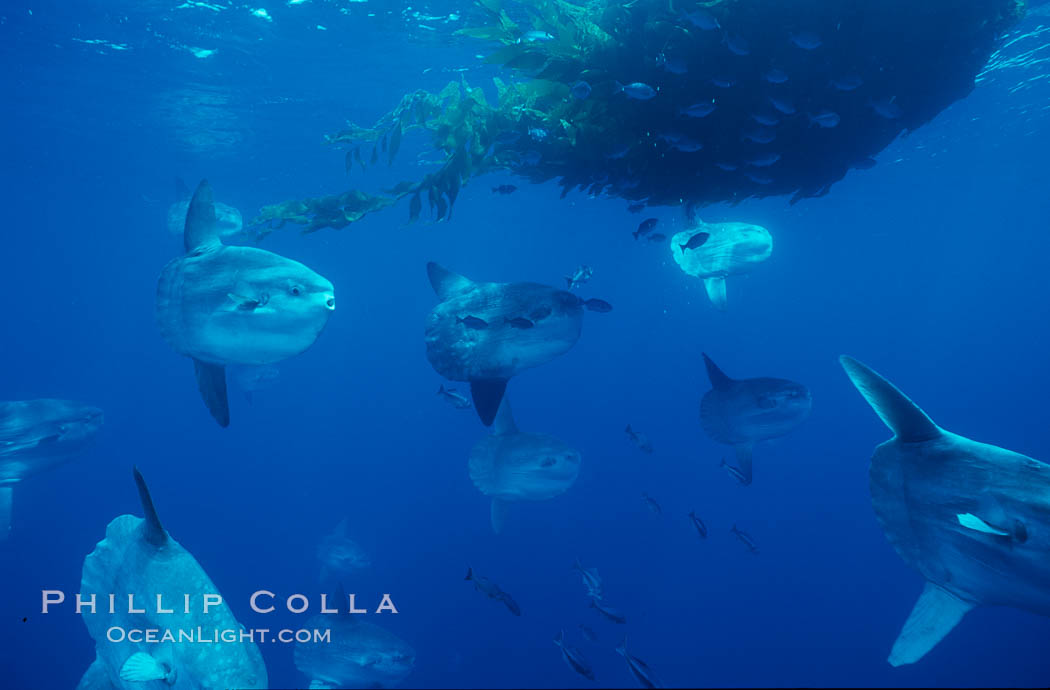
M219 423L230 423L228 364L272 364L312 346L335 309L332 284L309 268L254 247L218 241L211 186L190 202L186 254L156 285L156 323L175 352L193 359L197 386Z

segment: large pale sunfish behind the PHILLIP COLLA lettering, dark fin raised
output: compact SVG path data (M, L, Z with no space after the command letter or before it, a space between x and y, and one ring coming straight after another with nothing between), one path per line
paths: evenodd
M161 525L149 489L134 471L145 518L122 515L106 527L106 537L84 559L80 583L82 601L94 597L96 613L81 615L91 639L96 658L77 690L219 690L222 688L266 688L267 672L255 643L249 641L197 643L180 642L178 630L239 630L225 600L203 612L201 598L219 593L201 565ZM110 593L118 593L114 613L109 613ZM189 612L184 594L194 598ZM129 594L136 610L129 613ZM158 612L158 597L166 609ZM114 644L107 639L111 627L173 630L174 642L130 642ZM160 635L161 633L159 633Z

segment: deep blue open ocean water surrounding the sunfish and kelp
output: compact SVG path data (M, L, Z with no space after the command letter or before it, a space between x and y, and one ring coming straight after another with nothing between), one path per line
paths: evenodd
M402 203L342 231L274 232L260 246L331 279L337 308L273 388L251 404L231 390L223 430L154 323L156 277L182 252L165 227L173 179L207 177L246 219L280 200L397 183L421 137L348 182L322 134L415 88L498 74L477 44L449 39L466 7L273 2L267 19L217 0L4 3L0 397L83 400L106 422L83 456L16 490L0 543L0 685L74 687L92 661L83 622L68 607L42 615L40 590L76 592L106 524L141 515L138 465L165 526L248 627L302 624L252 613L248 598L316 602L317 543L346 518L373 561L346 586L397 603L373 620L416 649L411 687L586 687L551 643L560 629L602 686L635 685L613 651L625 629L669 686L1046 686L1050 621L1007 608L969 613L918 664L886 664L922 579L872 510L868 459L889 433L836 359L872 364L945 428L1050 459L1050 20L1031 5L975 90L875 168L794 206L701 209L774 235L773 257L731 279L726 313L666 245L631 236L648 216L680 229L680 209L632 215L508 174L471 181L447 223L404 226ZM500 184L519 189L494 194ZM614 307L586 314L571 352L511 381L519 425L565 439L583 462L565 495L516 504L499 536L467 476L487 432L435 395L444 381L424 356L429 260L558 286L587 264L578 292ZM812 391L808 420L756 448L752 486L726 475L731 449L699 426L701 352L731 376ZM626 626L588 609L576 558L598 568ZM464 582L468 566L522 615ZM290 645L262 654L271 687L304 686Z

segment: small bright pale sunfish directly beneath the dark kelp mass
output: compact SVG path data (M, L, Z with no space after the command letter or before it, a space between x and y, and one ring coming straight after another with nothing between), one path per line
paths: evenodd
M693 237L708 237L695 249L682 251ZM726 278L747 273L773 254L773 237L765 228L750 223L704 223L693 225L671 237L671 255L689 275L704 280L708 297L718 309L726 309Z

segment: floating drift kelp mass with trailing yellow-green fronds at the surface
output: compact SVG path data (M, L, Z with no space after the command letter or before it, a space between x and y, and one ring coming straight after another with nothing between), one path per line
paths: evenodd
M496 44L486 62L518 78L496 80L496 104L461 80L328 138L349 171L392 162L424 129L439 170L381 194L268 206L254 225L342 228L404 196L410 221L424 204L442 219L491 170L650 205L820 196L969 93L1024 12L1018 0L478 6L482 25L459 34Z

